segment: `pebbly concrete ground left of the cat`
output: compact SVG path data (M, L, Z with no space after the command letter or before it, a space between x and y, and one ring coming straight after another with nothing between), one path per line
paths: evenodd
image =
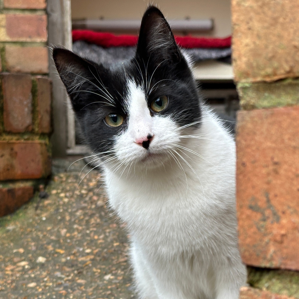
M47 198L0 219L0 298L135 298L125 224L97 171L71 162L53 161Z

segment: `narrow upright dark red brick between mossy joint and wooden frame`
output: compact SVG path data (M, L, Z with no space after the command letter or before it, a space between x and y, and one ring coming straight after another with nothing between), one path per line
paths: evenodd
M51 80L47 77L36 77L36 82L38 131L49 133L51 131Z

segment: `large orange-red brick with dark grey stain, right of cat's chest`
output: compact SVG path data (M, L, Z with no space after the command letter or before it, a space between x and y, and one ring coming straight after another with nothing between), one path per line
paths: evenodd
M299 106L239 112L236 145L242 260L299 270Z

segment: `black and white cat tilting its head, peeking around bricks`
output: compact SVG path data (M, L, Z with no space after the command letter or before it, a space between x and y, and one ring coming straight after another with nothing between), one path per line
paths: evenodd
M132 59L97 65L60 48L53 58L127 223L139 298L239 298L234 138L161 11L144 13Z

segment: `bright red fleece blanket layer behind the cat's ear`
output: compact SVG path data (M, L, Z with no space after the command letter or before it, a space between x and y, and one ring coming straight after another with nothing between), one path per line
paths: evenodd
M134 47L137 44L136 35L114 35L108 32L91 30L73 30L73 42L83 40L105 48ZM175 36L176 42L183 48L228 48L231 46L231 36L225 38L206 38L193 36Z

